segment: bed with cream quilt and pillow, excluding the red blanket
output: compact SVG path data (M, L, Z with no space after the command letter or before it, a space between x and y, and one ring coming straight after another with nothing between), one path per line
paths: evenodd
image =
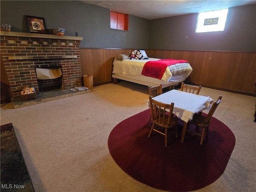
M129 55L120 54L114 58L113 73L114 83L118 79L142 84L146 86L158 86L162 83L162 87L174 86L183 82L192 72L192 67L185 61L167 66L164 70L162 78L142 75L144 65L149 61L162 60L159 58L148 58L143 60L130 60Z

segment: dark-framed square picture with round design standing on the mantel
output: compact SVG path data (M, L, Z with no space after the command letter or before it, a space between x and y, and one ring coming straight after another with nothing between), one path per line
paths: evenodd
M26 15L26 20L28 23L28 31L30 33L46 34L44 18Z

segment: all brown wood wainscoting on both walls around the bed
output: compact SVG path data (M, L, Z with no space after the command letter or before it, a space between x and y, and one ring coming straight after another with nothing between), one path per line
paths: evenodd
M131 49L80 48L82 75L92 74L94 86L113 81L112 62ZM256 53L146 50L149 57L188 60L193 72L187 83L256 96Z

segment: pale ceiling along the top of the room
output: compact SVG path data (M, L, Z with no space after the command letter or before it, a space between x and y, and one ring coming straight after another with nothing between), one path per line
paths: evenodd
M248 4L256 4L256 0L81 0L114 12L130 14L145 19L159 19L190 13L199 13L225 9Z

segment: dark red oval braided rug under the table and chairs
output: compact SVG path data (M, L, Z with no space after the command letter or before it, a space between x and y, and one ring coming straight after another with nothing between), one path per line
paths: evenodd
M163 135L148 138L149 116L150 109L140 112L110 132L110 154L124 172L148 186L173 192L198 190L221 176L235 146L234 134L225 124L212 118L208 141L202 146L198 136L187 133L183 144L171 135L165 147ZM179 121L180 131L182 126Z

